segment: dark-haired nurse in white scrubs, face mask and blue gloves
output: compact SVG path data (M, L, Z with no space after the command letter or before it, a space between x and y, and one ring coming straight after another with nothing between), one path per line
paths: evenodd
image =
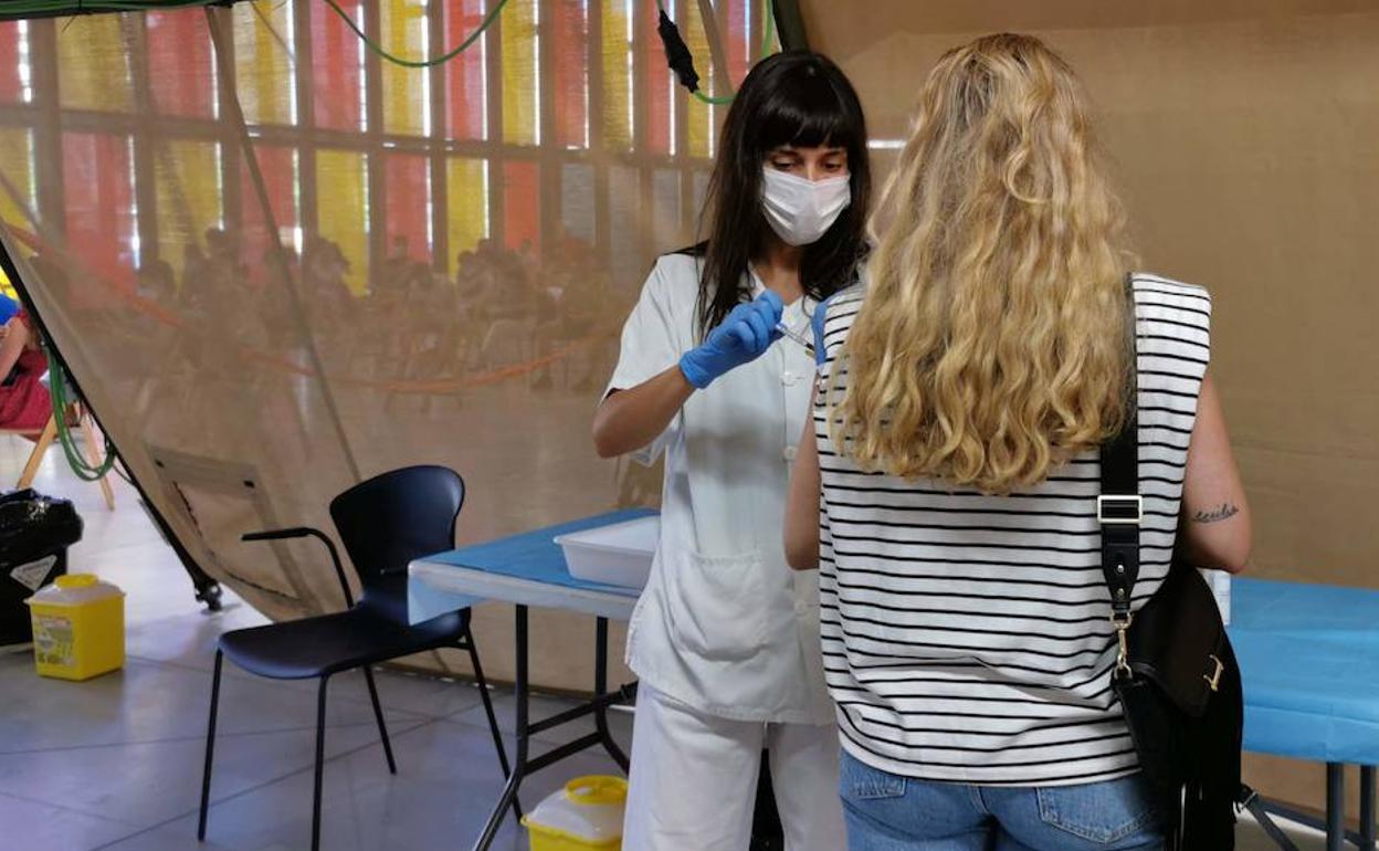
M845 845L818 579L781 543L814 357L776 326L809 338L815 305L855 280L869 189L843 72L809 52L763 61L728 110L707 241L656 262L623 328L594 444L666 459L627 634L630 851L745 851L763 748L786 848Z

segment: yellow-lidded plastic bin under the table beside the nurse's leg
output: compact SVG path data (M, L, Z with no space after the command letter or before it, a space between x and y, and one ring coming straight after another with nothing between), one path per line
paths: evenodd
M622 814L627 781L621 777L576 777L521 823L531 836L531 851L601 851L622 848Z

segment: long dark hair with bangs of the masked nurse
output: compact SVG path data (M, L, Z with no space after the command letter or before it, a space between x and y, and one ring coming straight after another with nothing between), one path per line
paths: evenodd
M761 250L769 225L761 210L761 172L767 154L782 145L837 146L848 152L852 200L818 241L804 246L800 286L822 301L856 274L866 252L865 228L872 175L866 121L856 91L826 57L789 51L763 59L742 81L728 109L705 210L707 241L699 272L699 334L706 335L742 301L750 299L747 265Z

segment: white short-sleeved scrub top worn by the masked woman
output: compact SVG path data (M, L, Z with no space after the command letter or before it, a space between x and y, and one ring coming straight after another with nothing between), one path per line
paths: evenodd
M622 332L610 390L634 388L698 345L699 259L651 270ZM763 290L753 276L756 291ZM814 302L785 309L811 338ZM785 499L809 415L814 357L793 341L696 390L638 461L666 455L661 543L627 633L627 665L709 714L832 724L818 571L786 565Z

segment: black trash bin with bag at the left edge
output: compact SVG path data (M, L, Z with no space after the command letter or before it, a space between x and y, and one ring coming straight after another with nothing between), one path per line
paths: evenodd
M68 548L80 539L70 501L33 490L0 495L0 645L33 640L23 601L68 572Z

